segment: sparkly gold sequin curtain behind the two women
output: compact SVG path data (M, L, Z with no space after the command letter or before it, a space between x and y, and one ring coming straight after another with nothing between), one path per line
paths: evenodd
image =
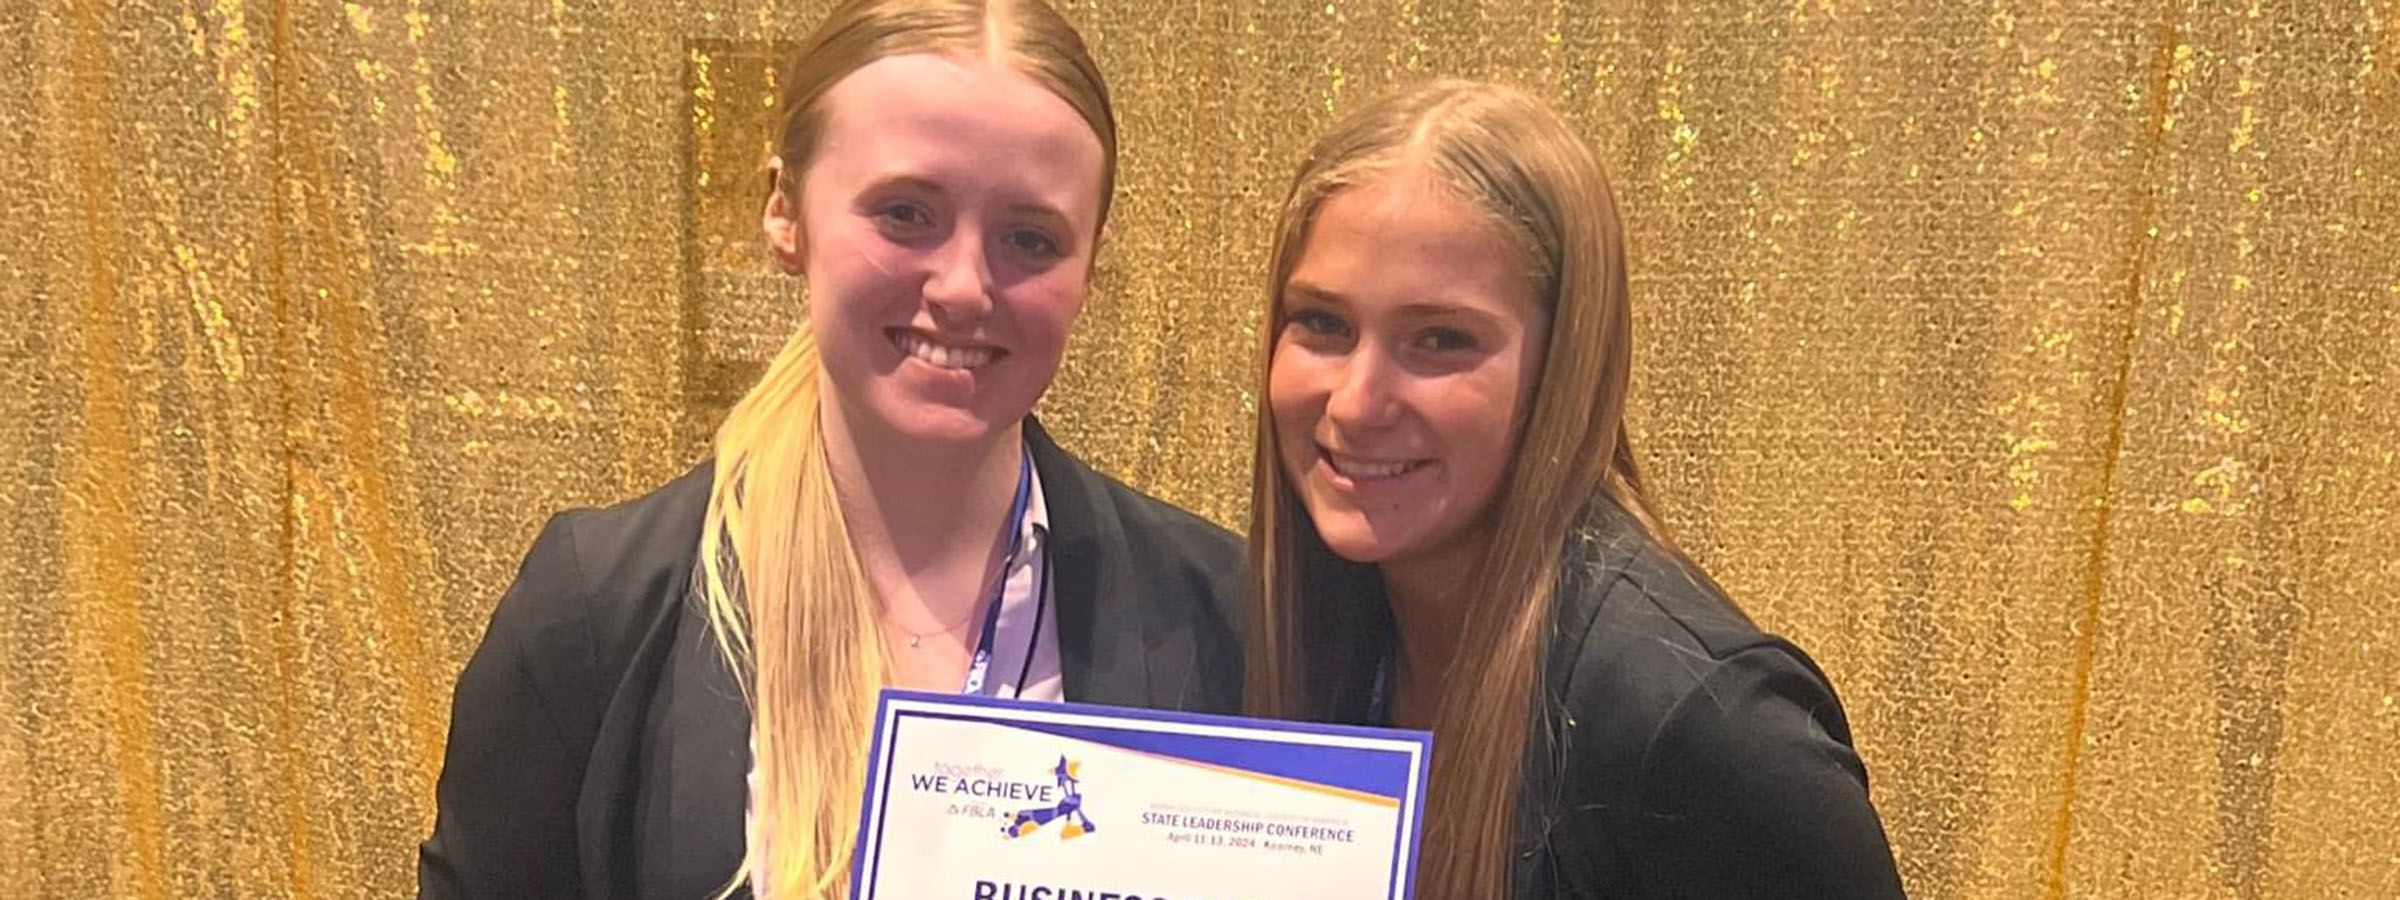
M542 516L698 458L821 2L5 0L0 886L389 898ZM2357 2L1075 2L1126 122L1044 415L1238 523L1265 228L1553 96L1634 425L1918 898L2400 895L2400 24Z

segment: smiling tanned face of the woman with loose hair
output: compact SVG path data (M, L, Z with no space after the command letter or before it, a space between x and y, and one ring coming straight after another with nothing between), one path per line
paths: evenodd
M1522 259L1418 166L1320 206L1277 300L1267 408L1332 552L1457 559L1488 538L1548 341Z

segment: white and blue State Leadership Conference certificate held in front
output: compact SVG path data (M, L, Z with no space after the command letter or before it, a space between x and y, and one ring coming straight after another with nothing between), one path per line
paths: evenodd
M883 691L852 900L1402 900L1433 737Z

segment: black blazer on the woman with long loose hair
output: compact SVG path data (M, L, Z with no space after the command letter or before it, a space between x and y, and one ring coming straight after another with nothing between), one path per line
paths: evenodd
M1514 895L1903 898L1817 662L1601 506L1567 545Z

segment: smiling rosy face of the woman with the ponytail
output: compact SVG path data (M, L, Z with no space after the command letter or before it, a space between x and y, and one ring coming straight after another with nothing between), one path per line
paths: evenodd
M917 442L1015 427L1090 288L1099 137L1022 72L948 55L869 62L821 103L799 209L775 192L766 235L809 278L828 410Z

